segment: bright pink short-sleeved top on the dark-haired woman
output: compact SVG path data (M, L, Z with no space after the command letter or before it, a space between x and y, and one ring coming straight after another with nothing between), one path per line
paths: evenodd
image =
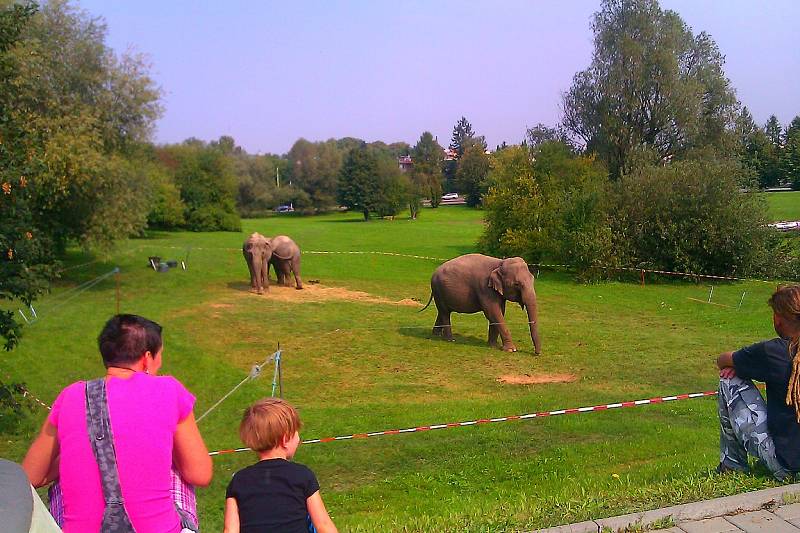
M172 438L194 406L194 396L171 376L137 372L111 378L108 411L125 509L138 533L179 533L170 493ZM50 423L58 429L59 480L64 531L99 531L105 503L86 429L85 383L65 388L53 403Z

